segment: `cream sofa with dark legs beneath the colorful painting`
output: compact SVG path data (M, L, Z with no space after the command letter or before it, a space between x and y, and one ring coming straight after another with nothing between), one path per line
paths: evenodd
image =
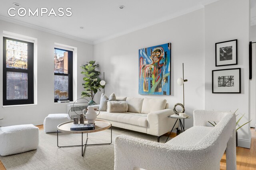
M167 117L174 114L174 111L168 109L165 99L116 97L116 100L126 101L128 111L125 113L100 111L97 119L107 120L115 127L157 136L158 142L159 137L169 132L176 121ZM176 123L175 128L178 126L179 124Z

